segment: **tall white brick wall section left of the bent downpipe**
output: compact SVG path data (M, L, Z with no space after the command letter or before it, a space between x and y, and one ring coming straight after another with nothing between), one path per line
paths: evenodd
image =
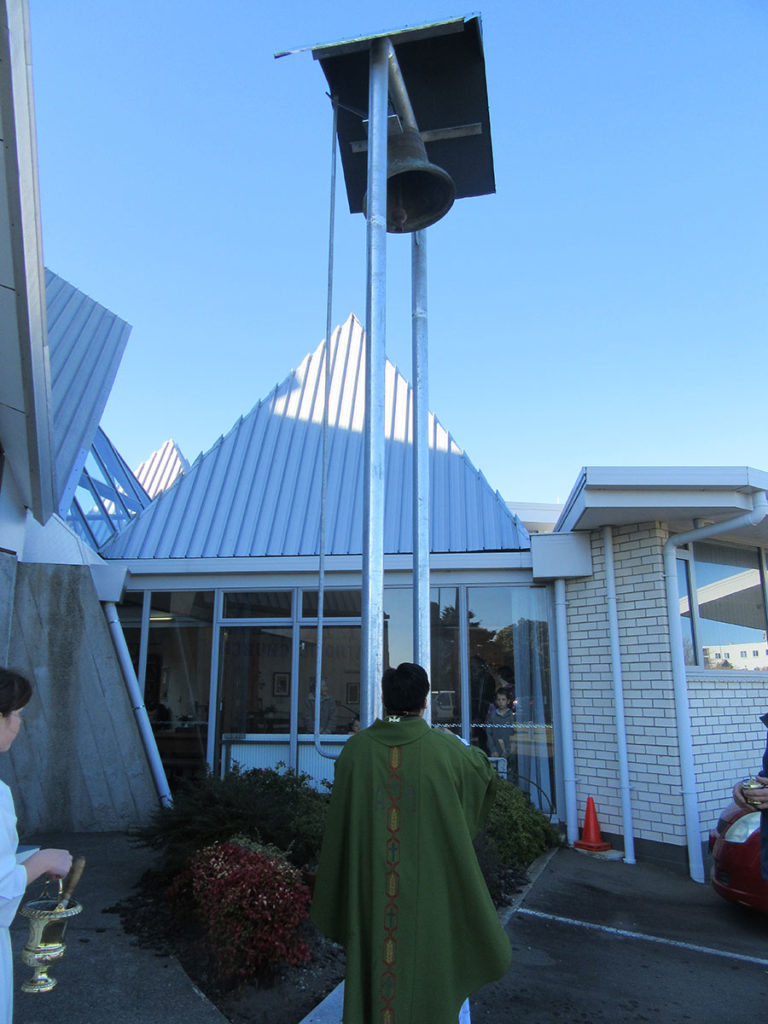
M635 838L684 847L662 556L667 536L658 523L616 527L613 560ZM601 829L622 835L602 532L591 540L593 577L567 586L579 818L591 796Z

